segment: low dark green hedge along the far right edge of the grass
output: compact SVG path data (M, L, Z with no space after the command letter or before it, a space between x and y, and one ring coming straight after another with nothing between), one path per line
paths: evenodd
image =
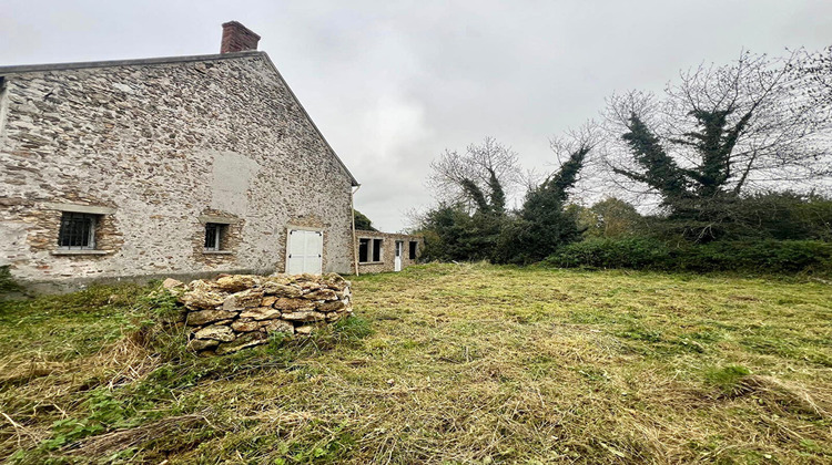
M718 241L670 247L650 238L587 239L558 249L545 265L678 271L832 273L832 242Z

